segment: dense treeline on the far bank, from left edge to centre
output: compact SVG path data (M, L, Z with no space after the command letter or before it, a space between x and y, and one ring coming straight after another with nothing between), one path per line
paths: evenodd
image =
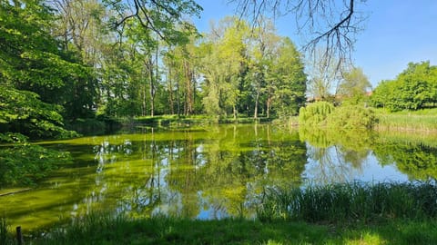
M140 10L98 0L2 1L0 132L66 133L65 122L157 114L290 115L306 74L268 19L227 17L207 34L193 1Z

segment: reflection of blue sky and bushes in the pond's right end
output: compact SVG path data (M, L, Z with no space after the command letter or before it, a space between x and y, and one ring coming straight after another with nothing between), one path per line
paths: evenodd
M381 166L395 165L411 180L437 178L437 137L419 132L362 132L300 129L308 142L304 178L313 183L352 181L373 154Z

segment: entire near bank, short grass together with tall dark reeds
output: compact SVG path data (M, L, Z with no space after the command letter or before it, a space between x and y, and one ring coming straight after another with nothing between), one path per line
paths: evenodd
M32 244L437 244L433 182L269 189L259 219L189 220L91 214ZM12 244L0 222L0 243Z

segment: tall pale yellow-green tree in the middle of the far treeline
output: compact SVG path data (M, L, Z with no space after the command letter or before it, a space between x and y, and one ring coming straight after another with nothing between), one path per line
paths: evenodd
M231 110L234 118L237 117L241 68L248 63L248 27L236 17L227 17L211 30L206 44L208 55L202 67L206 80L203 103L207 113Z

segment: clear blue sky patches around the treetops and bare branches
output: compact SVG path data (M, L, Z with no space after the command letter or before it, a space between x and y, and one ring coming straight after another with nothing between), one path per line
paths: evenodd
M201 18L195 19L201 32L208 32L210 20L235 13L235 5L228 5L228 0L196 2L204 8ZM410 62L437 65L437 0L367 0L360 10L368 19L357 35L352 57L373 86L394 79ZM293 16L279 17L276 24L280 35L301 43Z

